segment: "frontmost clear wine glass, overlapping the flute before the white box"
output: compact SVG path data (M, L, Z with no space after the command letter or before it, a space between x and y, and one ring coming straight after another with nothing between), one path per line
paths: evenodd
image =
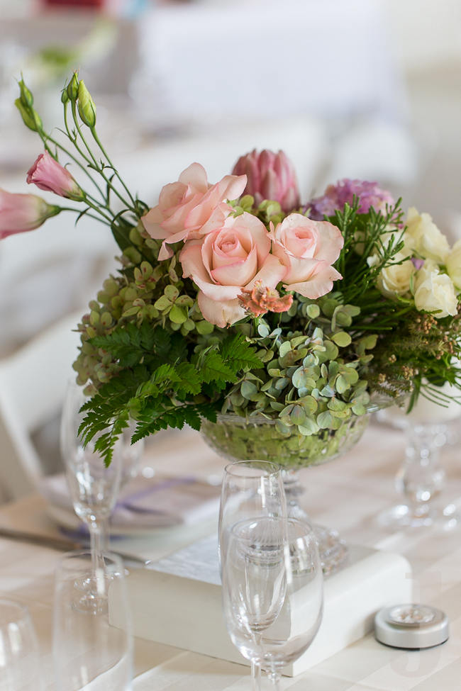
M228 536L223 611L233 644L279 689L281 669L309 648L323 611L323 573L309 524L243 519Z

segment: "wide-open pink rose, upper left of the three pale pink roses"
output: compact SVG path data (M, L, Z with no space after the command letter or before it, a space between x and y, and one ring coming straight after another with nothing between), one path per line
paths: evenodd
M164 240L158 259L172 256L172 249L166 245L205 235L211 215L213 223L217 218L223 221L229 213L226 200L240 197L246 181L245 176L226 175L216 185L210 185L204 167L192 163L177 182L165 185L158 205L142 218L150 237Z

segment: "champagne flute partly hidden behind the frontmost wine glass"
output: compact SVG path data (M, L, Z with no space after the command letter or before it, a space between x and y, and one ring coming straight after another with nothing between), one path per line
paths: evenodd
M270 461L236 461L224 471L219 510L219 556L221 575L226 578L226 563L230 554L229 540L242 519L285 518L282 472ZM253 689L260 688L260 650L256 639L245 648L251 661ZM245 654L245 653L243 653Z

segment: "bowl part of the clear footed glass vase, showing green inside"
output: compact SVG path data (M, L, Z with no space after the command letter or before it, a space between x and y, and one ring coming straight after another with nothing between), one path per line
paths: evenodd
M370 410L370 412L373 412ZM202 420L201 433L211 448L229 461L273 461L282 468L296 470L344 454L357 444L370 420L370 413L345 420L338 429L321 429L311 437L279 431L276 420L263 415L240 417L218 415L217 422Z

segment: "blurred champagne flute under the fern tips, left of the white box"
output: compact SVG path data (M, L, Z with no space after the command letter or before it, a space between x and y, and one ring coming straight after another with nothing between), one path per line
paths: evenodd
M78 430L84 418L84 413L79 413L79 409L85 400L82 387L70 383L62 408L60 441L72 504L79 519L89 529L93 570L96 573L102 563L108 521L118 496L123 454L121 445L116 444L112 462L106 468L104 459L94 449L93 440L84 448Z

